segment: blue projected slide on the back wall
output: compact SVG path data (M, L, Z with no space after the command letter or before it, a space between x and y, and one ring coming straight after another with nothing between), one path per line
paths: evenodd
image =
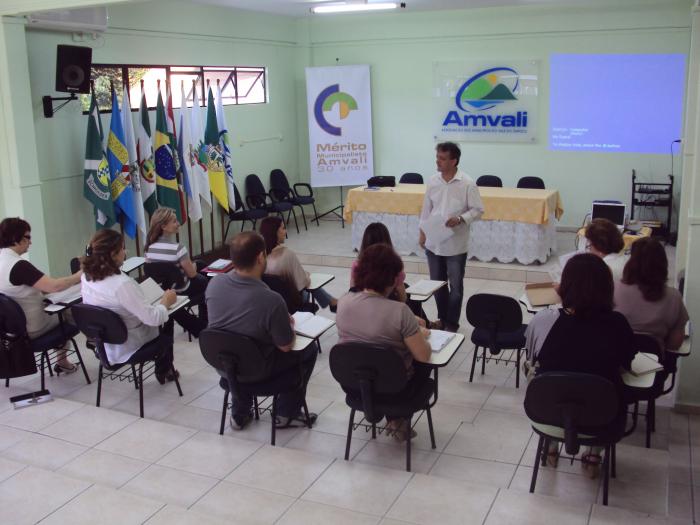
M668 153L681 136L685 60L551 55L550 149Z

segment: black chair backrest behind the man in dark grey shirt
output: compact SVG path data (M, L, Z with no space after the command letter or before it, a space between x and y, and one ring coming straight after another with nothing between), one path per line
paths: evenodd
M250 383L268 374L270 355L250 337L206 328L199 334L199 349L207 363L226 373L232 389L238 381Z

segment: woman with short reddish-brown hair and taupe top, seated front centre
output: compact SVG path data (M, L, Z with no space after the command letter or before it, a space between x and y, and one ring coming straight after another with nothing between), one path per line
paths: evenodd
M410 308L389 296L395 290L403 262L387 244L375 244L362 252L355 268L355 284L360 290L338 301L339 343L366 343L391 348L403 358L409 382L397 397L410 397L430 375L427 338L430 332L418 326ZM398 440L413 436L404 419L389 420L390 432Z

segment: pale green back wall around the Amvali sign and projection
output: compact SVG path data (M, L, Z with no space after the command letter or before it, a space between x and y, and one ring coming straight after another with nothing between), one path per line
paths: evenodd
M340 65L371 66L375 170L379 175L435 172L434 62L540 60L538 143L462 143L460 166L473 178L498 175L505 185L514 186L521 176L542 177L548 187L561 191L565 209L562 225L579 226L596 198L629 203L633 168L644 180L666 182L670 157L549 151L549 55L687 53L691 4L672 0L606 2L614 7L602 7L603 3L592 1L578 8L317 17L307 25L312 65L335 65L337 59ZM305 125L302 122L302 129ZM675 138L669 137L669 146ZM303 153L300 159L308 166ZM674 167L679 175L679 155Z

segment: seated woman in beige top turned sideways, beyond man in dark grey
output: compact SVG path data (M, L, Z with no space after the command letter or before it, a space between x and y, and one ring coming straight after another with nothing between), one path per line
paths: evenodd
M265 273L279 275L291 281L299 292L305 294L304 289L311 284L309 273L304 270L296 254L284 246L284 240L287 237L284 221L279 217L265 217L260 223L260 235L265 239L267 250ZM314 290L312 295L321 308L328 307L331 312L336 311L338 300L323 288Z

